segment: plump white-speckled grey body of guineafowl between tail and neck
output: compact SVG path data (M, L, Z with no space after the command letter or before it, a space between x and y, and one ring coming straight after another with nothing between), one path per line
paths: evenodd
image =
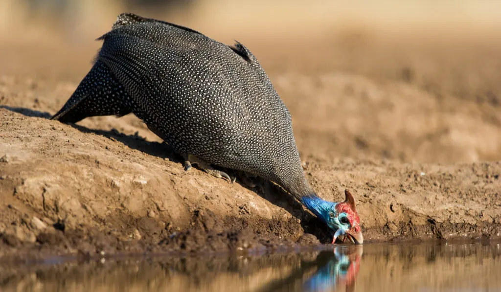
M102 39L99 60L178 152L278 183L280 168L300 166L289 111L243 45L153 21Z

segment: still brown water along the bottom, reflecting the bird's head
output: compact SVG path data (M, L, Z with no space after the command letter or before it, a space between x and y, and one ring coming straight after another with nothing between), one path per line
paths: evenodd
M51 262L52 261L52 262ZM336 245L298 253L0 265L1 291L501 291L501 244Z

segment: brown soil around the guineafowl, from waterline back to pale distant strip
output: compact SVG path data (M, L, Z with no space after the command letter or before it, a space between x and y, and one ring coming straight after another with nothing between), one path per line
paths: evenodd
M367 242L500 237L500 43L353 31L238 40L289 107L315 190L334 201L354 190ZM0 256L328 242L280 188L185 172L132 115L48 120L90 69L90 41L0 42Z

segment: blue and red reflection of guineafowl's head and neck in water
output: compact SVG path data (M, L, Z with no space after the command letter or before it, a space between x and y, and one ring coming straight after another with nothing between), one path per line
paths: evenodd
M336 246L319 252L314 260L302 260L287 277L267 284L262 291L335 291L355 290L363 246Z

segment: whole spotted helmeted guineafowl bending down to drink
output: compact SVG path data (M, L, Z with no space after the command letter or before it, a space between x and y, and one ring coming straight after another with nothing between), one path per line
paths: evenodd
M186 171L196 164L234 182L216 166L272 181L327 224L333 244L363 243L353 194L346 189L344 201L330 202L313 190L290 112L244 45L132 13L97 40L91 70L52 120L133 113L184 158Z

